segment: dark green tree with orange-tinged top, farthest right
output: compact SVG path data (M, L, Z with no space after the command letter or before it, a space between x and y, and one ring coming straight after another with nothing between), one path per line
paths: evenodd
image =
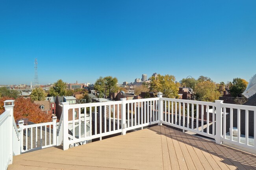
M245 91L248 82L245 79L235 78L233 79L232 86L230 87L230 93L232 97L241 97Z

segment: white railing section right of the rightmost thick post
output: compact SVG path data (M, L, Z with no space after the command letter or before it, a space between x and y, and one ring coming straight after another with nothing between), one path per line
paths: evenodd
M224 103L222 107L224 144L256 151L256 107Z

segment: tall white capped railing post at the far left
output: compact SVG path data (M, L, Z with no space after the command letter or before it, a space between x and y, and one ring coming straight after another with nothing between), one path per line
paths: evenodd
M9 115L9 137L10 137L10 143L9 143L9 154L10 154L10 160L9 164L13 163L13 107L14 107L14 100L6 100L4 101L4 108L5 110L10 110Z

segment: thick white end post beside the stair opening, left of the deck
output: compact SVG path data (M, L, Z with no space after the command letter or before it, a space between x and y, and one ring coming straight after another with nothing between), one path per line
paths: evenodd
M69 149L69 102L62 102L63 150Z

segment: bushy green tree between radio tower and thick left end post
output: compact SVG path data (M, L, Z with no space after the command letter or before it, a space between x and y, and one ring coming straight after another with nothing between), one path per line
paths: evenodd
M67 93L67 83L63 82L59 79L57 82L53 84L54 86L50 88L49 95L50 96L65 96Z

